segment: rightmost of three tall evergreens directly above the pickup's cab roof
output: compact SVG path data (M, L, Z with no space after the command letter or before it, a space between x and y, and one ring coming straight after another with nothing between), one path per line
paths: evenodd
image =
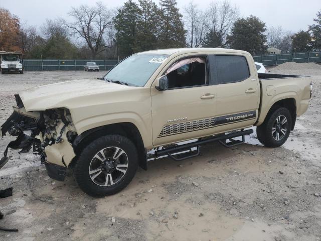
M161 0L161 19L159 28L160 48L185 47L185 34L182 15L176 0Z

